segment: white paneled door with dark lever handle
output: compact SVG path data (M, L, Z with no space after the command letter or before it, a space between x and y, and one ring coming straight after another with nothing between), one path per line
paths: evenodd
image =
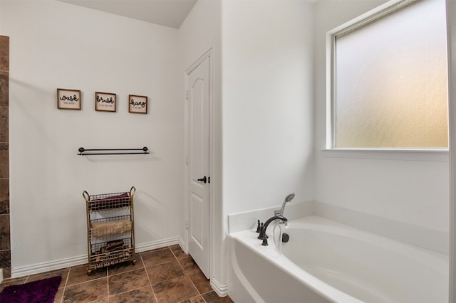
M209 279L210 57L187 72L188 251Z

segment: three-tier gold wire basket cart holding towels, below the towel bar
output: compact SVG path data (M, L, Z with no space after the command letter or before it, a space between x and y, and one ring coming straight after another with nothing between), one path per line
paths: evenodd
M87 211L87 273L120 262L136 262L133 196L123 193L89 195L83 191Z

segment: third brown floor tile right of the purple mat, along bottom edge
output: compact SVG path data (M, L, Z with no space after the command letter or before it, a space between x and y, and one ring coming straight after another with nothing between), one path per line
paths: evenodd
M197 297L198 291L188 277L177 277L172 280L152 285L158 303L175 303Z

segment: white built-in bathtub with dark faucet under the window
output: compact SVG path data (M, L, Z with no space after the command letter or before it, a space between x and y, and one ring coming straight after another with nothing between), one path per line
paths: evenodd
M254 230L229 235L234 302L448 302L447 255L317 216L282 228L282 254L273 230L269 246Z

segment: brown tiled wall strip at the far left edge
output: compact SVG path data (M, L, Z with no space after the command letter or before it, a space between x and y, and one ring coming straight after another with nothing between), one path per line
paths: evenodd
M9 236L9 37L0 36L0 268L11 277Z

